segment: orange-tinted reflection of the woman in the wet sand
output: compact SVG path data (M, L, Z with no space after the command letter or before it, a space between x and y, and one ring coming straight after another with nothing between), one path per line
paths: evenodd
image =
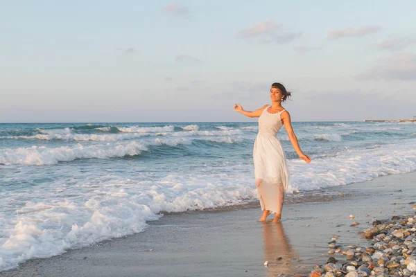
M264 258L269 262L267 276L293 274L292 259L296 253L286 237L281 222L264 224Z

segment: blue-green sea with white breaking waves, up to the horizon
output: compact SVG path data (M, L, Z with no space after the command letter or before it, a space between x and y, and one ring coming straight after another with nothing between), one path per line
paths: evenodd
M416 123L295 122L297 195L416 170ZM257 202L257 122L0 124L0 271L140 233L164 213ZM254 219L255 220L255 219Z

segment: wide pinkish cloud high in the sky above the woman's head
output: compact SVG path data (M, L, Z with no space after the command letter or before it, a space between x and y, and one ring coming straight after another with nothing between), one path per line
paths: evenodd
M281 24L266 20L240 30L237 37L261 44L284 44L292 42L301 35L302 33L285 30Z

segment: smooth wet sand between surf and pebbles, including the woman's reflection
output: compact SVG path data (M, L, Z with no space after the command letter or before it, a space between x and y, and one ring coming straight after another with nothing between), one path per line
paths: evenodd
M332 235L340 236L338 244L365 245L358 232L369 228L373 220L414 215L415 185L413 172L297 195L284 206L281 224L257 222L261 215L257 204L164 215L149 222L143 233L29 260L0 276L307 274L313 265L329 258L327 243ZM352 221L359 225L350 226ZM266 260L268 267L263 266Z

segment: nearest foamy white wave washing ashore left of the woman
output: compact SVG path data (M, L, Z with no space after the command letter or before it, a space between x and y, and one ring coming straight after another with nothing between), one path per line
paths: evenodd
M99 186L96 182L85 183L80 184L86 188L82 197L66 199L35 192L30 196L34 201L17 210L17 220L15 215L4 219L7 228L0 238L0 271L31 258L48 258L68 249L142 232L146 222L162 216L159 213L243 204L245 199L257 197L255 188L239 184L242 179L218 184L217 175L189 177L195 179L189 185L184 183L183 175L177 174L157 184L130 180ZM200 186L207 182L212 185Z

